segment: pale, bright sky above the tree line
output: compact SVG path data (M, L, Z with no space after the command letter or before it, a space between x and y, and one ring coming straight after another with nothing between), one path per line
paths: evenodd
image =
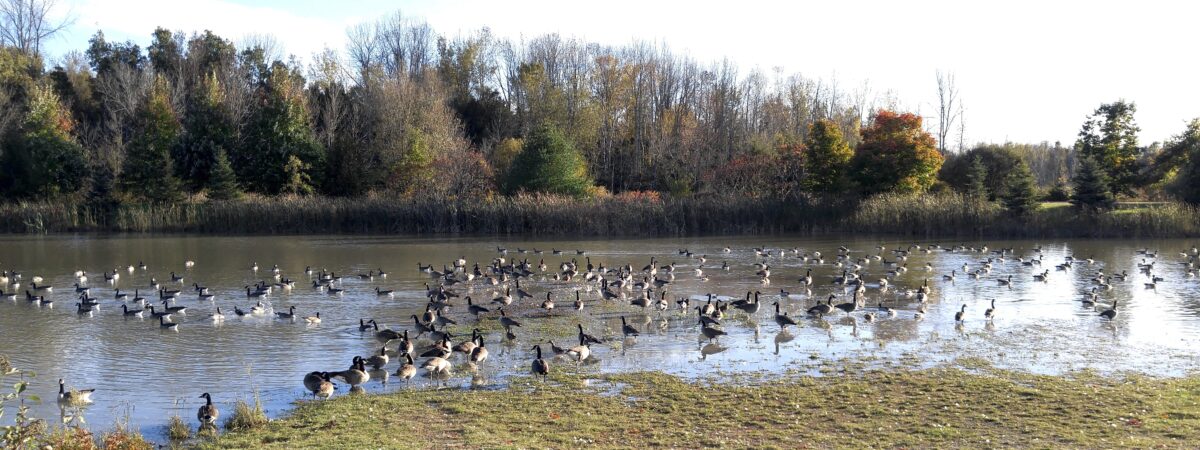
M700 61L892 92L936 120L937 71L953 72L967 142L1074 142L1086 116L1121 98L1140 138L1164 140L1200 118L1200 2L1117 1L540 1L540 0L60 0L74 24L54 58L109 40L149 42L156 26L227 38L272 35L287 54L342 49L346 29L401 11L446 36L482 26L601 44L665 42Z

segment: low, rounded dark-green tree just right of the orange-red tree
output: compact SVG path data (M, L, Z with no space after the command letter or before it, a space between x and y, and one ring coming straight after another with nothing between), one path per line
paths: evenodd
M1022 163L1021 156L1012 145L985 144L947 160L937 176L961 192L977 192L979 186L972 186L976 182L972 176L978 175L978 168L974 167L977 158L985 169L983 193L989 199L1003 194L1008 174Z

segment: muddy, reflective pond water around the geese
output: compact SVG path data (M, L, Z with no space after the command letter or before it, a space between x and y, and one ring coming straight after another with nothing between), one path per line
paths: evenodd
M94 427L108 427L114 420L127 416L134 426L152 438L162 439L167 418L179 414L193 427L194 412L203 402L202 392L212 392L223 414L233 409L236 400L252 400L257 394L268 413L278 415L305 396L301 378L310 371L338 371L348 367L355 355L378 352L379 344L371 332L360 332L360 318L374 318L384 326L412 328L414 313L424 310L425 284L431 277L419 270L418 263L433 263L437 268L464 257L469 263L480 262L485 268L498 256L497 246L509 248L510 258L529 258L536 265L545 259L553 271L564 259L584 256L575 250L586 250L594 264L607 268L631 264L635 270L646 265L650 257L659 264L678 263L673 282L667 286L672 307L680 296L703 299L713 293L740 298L748 290L762 292L763 307L755 317L730 308L722 323L728 336L709 343L702 338L696 326L695 312L683 314L674 310L658 313L653 308L629 306L628 301L602 302L594 286L578 282L554 281L552 276L538 275L522 282L522 288L533 294L533 300L512 305L508 310L524 323L517 329L516 342L502 343L502 332L494 331L494 313L486 316L486 342L491 358L472 373L461 355L454 356L456 373L450 386L498 389L512 374L524 374L532 360L530 347L553 338L556 343L574 343L574 325L582 322L593 335L602 335L611 343L593 346L595 358L583 366L583 371L620 372L661 370L684 377L718 377L734 382L739 373L810 373L827 374L841 364L865 364L870 367L926 367L965 358L983 359L989 364L1036 373L1063 373L1076 370L1096 370L1102 373L1139 372L1153 376L1183 376L1198 367L1200 347L1200 281L1188 276L1181 264L1186 258L1181 251L1195 242L1184 240L1130 241L1130 240L1076 240L1076 241L989 241L965 242L990 248L1013 247L1015 254L1006 262L994 263L994 269L979 280L962 274L962 265L978 269L980 260L994 254L972 251L913 252L907 260L907 272L892 277L889 289L881 293L877 280L887 276L890 268L881 260L872 260L862 270L870 289L866 292L864 311L874 311L878 302L898 311L895 317L880 314L874 323L864 318L864 311L851 317L838 312L824 320L804 318L804 311L829 293L839 295L836 302L848 301L848 290L832 284L830 280L846 268L835 266L834 254L841 245L851 250L854 258L880 253L876 246L884 246L882 259L894 260L892 248L908 247L911 241L894 238L702 238L702 239L649 239L649 240L590 240L590 241L522 241L508 239L431 239L431 238L380 238L380 236L10 236L0 239L0 268L23 274L18 292L30 287L34 276L44 278L54 287L47 294L54 300L53 307L16 300L0 301L0 354L7 355L16 367L36 373L30 392L43 398L32 404L32 413L41 418L59 418L62 412L54 402L58 378L65 378L68 386L95 388L95 403L82 415L66 419L86 420ZM920 244L931 244L922 241ZM942 242L944 245L959 242ZM1018 257L1037 256L1031 251L1042 246L1043 264L1025 266ZM730 253L722 251L731 247ZM757 246L774 248L775 256L761 258L751 250ZM824 264L803 263L788 252L779 257L779 248L798 248L806 253L820 251ZM1158 250L1157 258L1140 254L1140 248ZM545 254L517 253L517 248L544 250ZM564 250L556 256L551 248ZM700 281L694 269L697 259L678 253L689 248L696 254L707 254L704 275ZM1073 269L1056 270L1055 265L1067 256L1094 258L1094 264L1078 262ZM185 268L193 260L192 268ZM767 260L772 266L770 283L763 284L752 264ZM1144 283L1150 278L1138 270L1139 263L1154 262L1153 274L1164 280L1156 289ZM130 274L126 266L143 262L146 270ZM724 262L732 266L720 270ZM259 271L250 268L258 263ZM924 266L930 264L931 271ZM271 268L278 264L283 276L298 282L290 292L276 292L268 296L274 310L283 311L295 305L298 316L320 312L323 322L308 325L304 320L274 319L274 314L239 318L234 306L248 308L244 287L260 280L271 281ZM311 278L304 269L312 266L344 274L346 293L340 296L311 288ZM360 280L354 275L372 269L384 269L385 278ZM101 272L118 269L121 277L115 283L106 283ZM811 269L816 280L811 292L803 292L797 280ZM91 316L77 314L77 294L72 284L73 274L84 270L89 275L91 295L101 299L100 308ZM181 274L184 283L172 283L170 271ZM958 270L955 281L942 280L943 274ZM1049 280L1034 281L1033 274L1049 270ZM1127 271L1127 281L1112 281L1114 288L1102 290L1100 302L1105 306L1085 307L1080 300L1094 283L1098 270L1106 274ZM1001 286L997 278L1013 276L1010 287ZM121 314L121 301L114 299L113 289L133 292L139 288L144 296L150 278L156 277L167 288L184 293L178 305L187 306L186 314L176 316L178 331L161 330L152 319L126 318ZM664 277L660 274L660 277ZM934 294L928 302L928 313L914 318L918 304L904 295L930 280ZM192 292L192 283L206 286L216 294L215 300L203 301ZM378 296L374 288L395 289L394 296ZM11 286L5 292L13 290ZM472 295L487 304L496 296L496 288L481 282L469 287L458 284L451 289ZM558 308L552 317L538 308L546 290L557 294ZM587 307L582 314L571 310L574 290L584 289ZM780 332L773 320L770 302L780 300L780 289L790 292L781 300L785 311L797 318L799 326ZM997 313L994 320L984 319L989 300L996 299ZM1120 316L1114 322L1098 317L1098 312L1112 301L1120 302ZM460 325L456 334L470 332L474 320L466 313L464 301L450 317ZM955 324L954 314L960 305L967 305L966 320ZM696 305L694 300L692 305ZM208 316L220 306L227 319L214 324ZM620 316L642 331L636 340L620 338ZM456 342L462 338L456 340ZM421 347L422 342L418 342ZM548 358L548 346L544 346ZM398 364L386 367L394 372ZM559 367L568 361L556 362ZM368 392L407 389L395 378L386 385L378 382L376 373L367 384ZM414 382L414 388L424 389L426 378ZM346 394L340 386L337 395ZM11 416L11 415L6 415Z

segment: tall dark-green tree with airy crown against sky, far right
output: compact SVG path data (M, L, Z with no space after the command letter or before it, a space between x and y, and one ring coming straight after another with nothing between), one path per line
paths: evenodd
M1100 104L1079 131L1075 151L1099 164L1112 194L1130 193L1138 182L1138 132L1133 115L1138 107L1120 100Z

